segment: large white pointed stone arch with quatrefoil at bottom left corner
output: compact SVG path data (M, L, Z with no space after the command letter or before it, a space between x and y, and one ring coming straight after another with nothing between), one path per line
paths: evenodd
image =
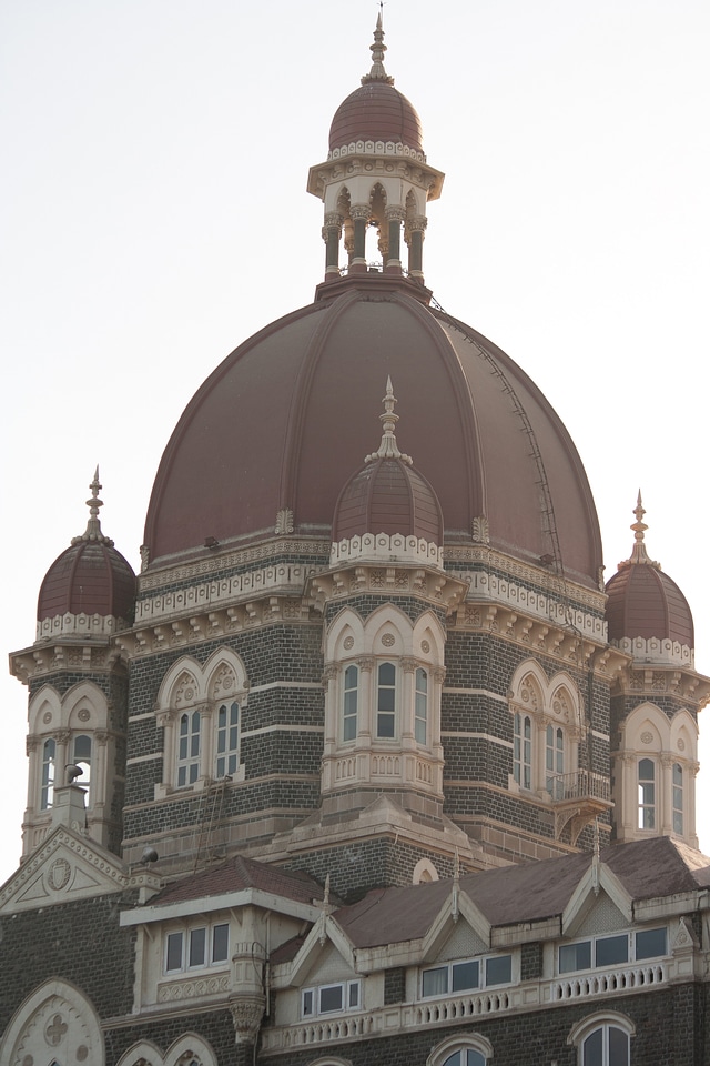
M105 1064L93 1004L75 985L58 977L28 996L0 1039L3 1066L23 1066L28 1059L44 1063L48 1054L62 1063Z

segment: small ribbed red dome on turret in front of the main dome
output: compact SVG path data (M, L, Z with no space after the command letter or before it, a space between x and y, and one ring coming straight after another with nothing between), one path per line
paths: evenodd
M402 533L443 543L442 509L422 474L399 459L378 459L355 474L337 502L333 540L364 533Z

